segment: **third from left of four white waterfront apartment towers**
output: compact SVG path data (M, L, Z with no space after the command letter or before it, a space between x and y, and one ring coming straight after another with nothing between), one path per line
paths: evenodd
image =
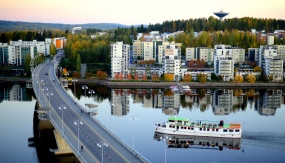
M231 46L215 45L214 72L217 76L222 76L224 81L234 79L234 60Z

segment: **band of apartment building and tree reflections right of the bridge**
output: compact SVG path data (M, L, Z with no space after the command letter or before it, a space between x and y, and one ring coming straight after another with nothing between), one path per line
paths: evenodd
M181 94L170 89L114 89L111 91L111 115L124 116L130 111L129 103L141 103L143 108L162 109L165 115L178 115L181 108L198 108L202 112L213 109L215 115L229 115L245 111L253 105L260 115L274 115L284 104L281 89L192 89ZM212 106L212 107L211 107Z

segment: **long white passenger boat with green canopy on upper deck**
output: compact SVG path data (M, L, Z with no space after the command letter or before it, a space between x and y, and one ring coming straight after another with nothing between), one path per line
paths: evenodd
M188 118L169 117L166 123L155 124L155 131L173 135L241 138L242 127L239 123L226 124L223 120L190 122Z

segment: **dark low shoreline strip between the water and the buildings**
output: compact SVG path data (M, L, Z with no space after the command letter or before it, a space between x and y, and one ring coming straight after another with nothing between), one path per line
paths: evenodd
M0 83L26 83L30 78L1 77ZM110 80L77 79L78 84L99 84L109 88L169 88L172 85L188 85L190 88L285 88L285 82L234 83L234 82L111 82Z

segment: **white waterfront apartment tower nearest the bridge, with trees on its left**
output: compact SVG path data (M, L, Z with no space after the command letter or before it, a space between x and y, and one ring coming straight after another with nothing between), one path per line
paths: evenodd
M130 45L123 42L111 44L111 76L115 78L116 73L128 74L130 65Z

